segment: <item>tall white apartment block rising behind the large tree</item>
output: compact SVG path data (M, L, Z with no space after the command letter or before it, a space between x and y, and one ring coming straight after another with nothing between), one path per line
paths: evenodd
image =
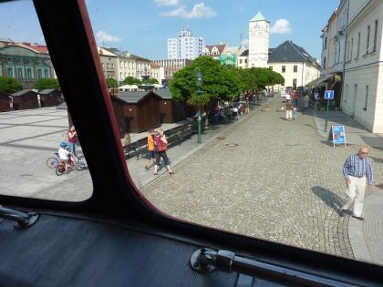
M168 39L168 58L193 60L202 54L203 46L202 37L192 36L190 28L182 29L178 38Z

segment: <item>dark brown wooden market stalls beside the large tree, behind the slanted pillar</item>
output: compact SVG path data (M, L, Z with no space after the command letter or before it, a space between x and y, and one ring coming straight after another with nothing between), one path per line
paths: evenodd
M119 127L119 136L160 128L162 123L174 123L191 117L194 110L186 102L172 99L169 89L125 91L111 96ZM66 103L57 108L67 109ZM72 119L68 113L69 124Z

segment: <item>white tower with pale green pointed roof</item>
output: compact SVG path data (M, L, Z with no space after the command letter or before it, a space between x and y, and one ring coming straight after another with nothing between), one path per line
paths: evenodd
M267 67L269 58L269 21L261 12L249 21L248 67Z

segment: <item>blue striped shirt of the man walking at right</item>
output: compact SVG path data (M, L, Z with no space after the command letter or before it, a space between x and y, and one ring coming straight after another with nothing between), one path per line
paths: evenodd
M367 157L360 159L358 154L349 156L343 165L343 175L345 179L348 179L348 176L362 177L367 175L367 182L371 184L373 178L371 160Z

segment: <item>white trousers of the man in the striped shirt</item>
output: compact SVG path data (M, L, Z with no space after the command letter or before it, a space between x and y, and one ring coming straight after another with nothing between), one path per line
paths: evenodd
M363 201L365 199L365 190L366 190L366 177L361 179L350 176L350 185L346 189L346 203L342 207L342 210L348 210L350 206L354 203L353 215L360 217L362 216L363 211Z

